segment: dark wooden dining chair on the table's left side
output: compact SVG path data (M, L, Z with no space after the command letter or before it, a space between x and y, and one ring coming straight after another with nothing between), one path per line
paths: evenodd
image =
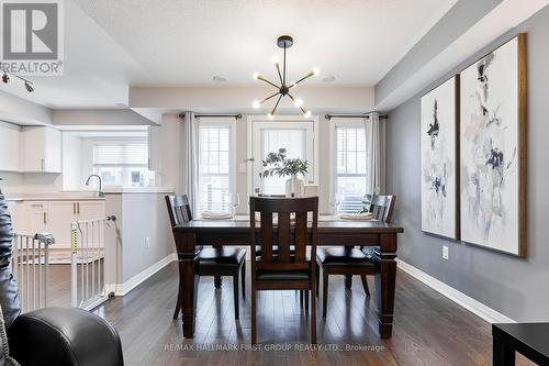
M192 220L191 208L187 195L166 196L166 204L168 206L168 213L172 228ZM173 312L173 319L177 319L179 312L182 311L182 300L184 296L181 291L182 251L180 251L180 246L182 246L183 243L178 243L177 236L173 236L176 239L176 249L179 262L179 291L177 295L176 311ZM212 243L212 245L215 245L215 243ZM238 277L242 276L242 297L244 299L246 298L246 251L229 246L202 247L198 254L197 274L199 276L233 277L235 319L239 319Z

